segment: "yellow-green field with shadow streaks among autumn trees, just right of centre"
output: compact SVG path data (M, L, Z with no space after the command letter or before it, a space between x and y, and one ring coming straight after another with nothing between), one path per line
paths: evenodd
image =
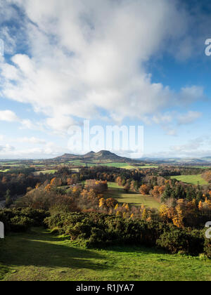
M160 203L152 196L143 196L136 192L124 192L123 188L117 183L108 183L108 192L106 197L113 197L120 203L127 203L134 206L141 206L142 204L148 208L160 209Z

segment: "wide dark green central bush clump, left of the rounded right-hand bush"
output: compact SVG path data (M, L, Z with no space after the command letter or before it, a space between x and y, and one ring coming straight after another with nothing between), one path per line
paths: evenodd
M89 240L90 247L106 244L139 244L153 247L160 232L161 223L127 220L103 214L54 214L45 220L52 230L60 228L72 240Z

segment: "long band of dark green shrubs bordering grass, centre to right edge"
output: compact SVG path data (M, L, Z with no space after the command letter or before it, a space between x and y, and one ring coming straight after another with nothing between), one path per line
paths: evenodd
M46 225L69 235L71 240L84 241L87 247L111 244L135 244L159 247L172 254L198 255L203 252L204 235L199 230L179 229L172 224L124 219L103 214L55 214L46 218ZM205 252L210 253L206 243Z

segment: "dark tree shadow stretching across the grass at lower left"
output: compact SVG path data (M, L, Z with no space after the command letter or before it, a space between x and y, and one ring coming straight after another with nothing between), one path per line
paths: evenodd
M9 267L34 265L47 268L108 269L103 264L103 258L94 251L71 247L67 240L61 242L59 238L41 230L6 237L0 252L0 263Z

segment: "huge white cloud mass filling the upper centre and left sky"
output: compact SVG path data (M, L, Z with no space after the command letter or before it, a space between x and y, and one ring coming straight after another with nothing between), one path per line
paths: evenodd
M29 53L1 60L1 95L30 103L53 130L102 112L116 122L144 119L203 97L198 86L175 93L154 83L145 66L184 37L186 12L177 1L8 2L25 11Z

